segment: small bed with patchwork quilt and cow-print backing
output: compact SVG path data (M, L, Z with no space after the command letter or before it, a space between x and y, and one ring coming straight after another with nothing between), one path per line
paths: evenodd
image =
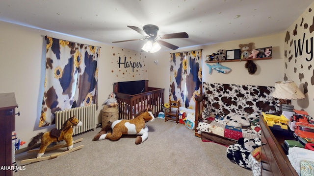
M258 121L262 112L276 112L276 100L271 96L274 87L204 82L203 88L204 94L195 104L195 136L202 140L229 146L241 137L260 138L247 122ZM247 127L239 125L241 118Z

